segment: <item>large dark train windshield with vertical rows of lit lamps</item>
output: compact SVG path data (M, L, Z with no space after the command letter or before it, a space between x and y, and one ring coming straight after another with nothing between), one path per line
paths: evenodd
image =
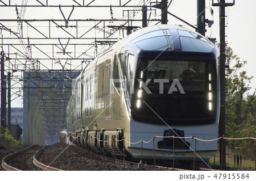
M135 81L135 120L154 124L212 123L216 111L214 60L142 58ZM162 123L160 123L162 122Z

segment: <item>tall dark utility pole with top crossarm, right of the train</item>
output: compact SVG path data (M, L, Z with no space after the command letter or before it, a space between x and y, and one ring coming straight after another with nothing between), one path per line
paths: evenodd
M225 48L226 48L226 42L225 42L225 7L226 6L233 6L233 3L226 3L225 0L220 0L219 3L214 3L214 0L212 0L212 6L219 6L220 7L220 121L219 121L219 134L220 137L225 137L226 135L226 129L225 129L225 99L226 99L226 78L225 78L225 62L226 62L226 56L225 56ZM226 144L225 140L222 139L220 141L220 163L221 166L226 166Z

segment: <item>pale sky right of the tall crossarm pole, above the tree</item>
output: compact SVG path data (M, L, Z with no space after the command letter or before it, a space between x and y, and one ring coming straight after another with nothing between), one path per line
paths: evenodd
M236 1L236 5L229 9L228 43L234 53L246 60L244 69L249 76L254 76L250 86L256 89L256 1ZM251 89L250 92L254 90Z

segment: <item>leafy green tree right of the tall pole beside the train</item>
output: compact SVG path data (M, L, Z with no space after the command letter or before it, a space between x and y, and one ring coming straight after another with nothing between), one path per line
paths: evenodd
M226 49L226 56L230 65L226 69L226 134L232 138L256 137L255 91L248 93L253 77L248 77L246 71L241 70L247 62L241 61L230 47ZM229 146L231 149L241 147L247 158L253 154L250 140L230 141Z

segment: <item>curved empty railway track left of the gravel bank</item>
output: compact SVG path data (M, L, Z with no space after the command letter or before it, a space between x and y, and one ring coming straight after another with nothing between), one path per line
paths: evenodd
M47 146L47 145L46 145ZM7 171L22 171L22 170L60 170L54 167L49 167L38 161L42 151L46 148L44 146L31 145L25 149L11 153L2 159L1 166ZM39 150L40 149L40 150ZM39 151L38 151L39 150ZM27 155L24 157L24 155Z

